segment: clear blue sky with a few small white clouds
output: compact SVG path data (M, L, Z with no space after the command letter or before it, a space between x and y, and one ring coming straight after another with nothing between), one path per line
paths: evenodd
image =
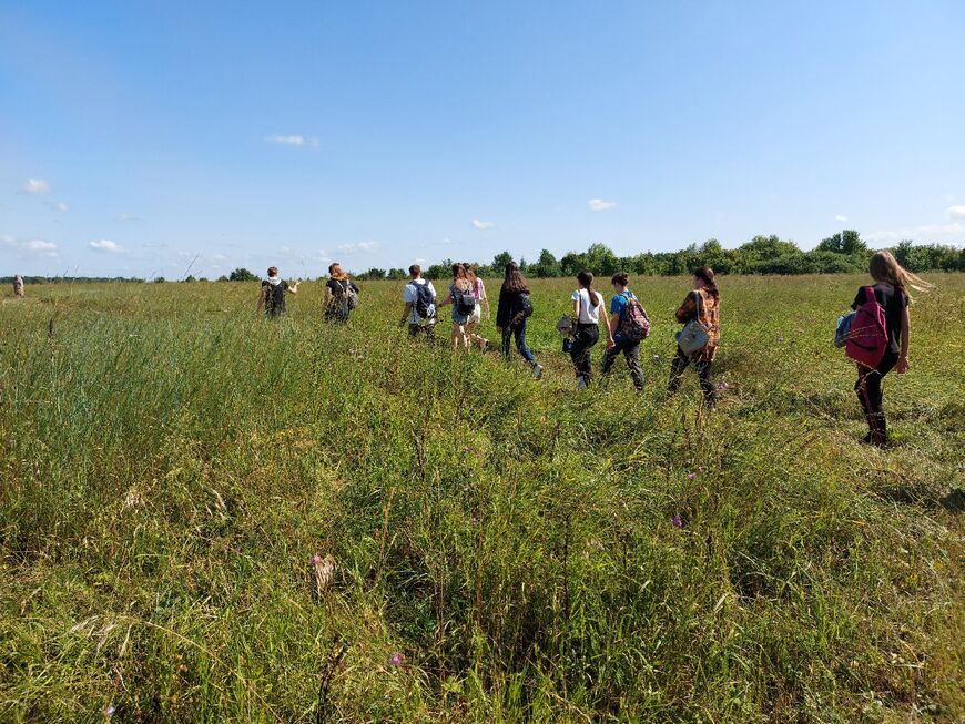
M0 3L0 275L965 243L965 2Z

